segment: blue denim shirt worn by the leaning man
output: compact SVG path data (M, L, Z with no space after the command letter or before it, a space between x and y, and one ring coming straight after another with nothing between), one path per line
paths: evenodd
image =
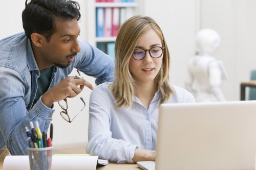
M95 83L114 81L114 60L79 40L81 51L67 68L54 66L50 88L68 77L73 68L96 78ZM33 105L37 91L36 80L40 76L30 40L25 33L0 40L0 150L7 145L12 155L27 155L25 127L38 121L41 131L47 132L52 108L41 102Z

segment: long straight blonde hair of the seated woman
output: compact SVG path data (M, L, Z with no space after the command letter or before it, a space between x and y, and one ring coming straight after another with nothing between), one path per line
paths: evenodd
M150 17L133 16L122 24L115 42L115 81L111 84L111 92L115 97L117 108L126 106L131 108L133 105L136 85L129 70L129 61L139 37L151 29L158 34L162 46L165 47L162 66L155 78L155 87L161 93L161 104L166 102L171 94L174 94L169 83L169 51L160 27Z

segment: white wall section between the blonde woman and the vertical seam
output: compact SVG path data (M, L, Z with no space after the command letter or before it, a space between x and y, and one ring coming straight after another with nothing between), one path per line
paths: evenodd
M170 53L170 82L184 87L188 59L195 54L197 1L144 1L144 15L152 17L165 36Z

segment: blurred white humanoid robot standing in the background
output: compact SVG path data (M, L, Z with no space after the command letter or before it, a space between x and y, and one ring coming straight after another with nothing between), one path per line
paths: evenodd
M229 76L223 62L211 57L220 42L220 35L212 29L202 29L196 36L198 55L189 60L189 78L185 82L196 102L226 101L219 86Z

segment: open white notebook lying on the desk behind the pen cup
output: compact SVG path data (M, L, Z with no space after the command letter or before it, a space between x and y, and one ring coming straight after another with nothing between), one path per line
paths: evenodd
M14 163L15 162L15 163ZM97 164L101 162L101 165L109 163L108 160L100 160L98 156L77 156L77 155L53 155L52 156L52 170L95 170ZM3 164L3 170L28 170L29 156L6 156Z

